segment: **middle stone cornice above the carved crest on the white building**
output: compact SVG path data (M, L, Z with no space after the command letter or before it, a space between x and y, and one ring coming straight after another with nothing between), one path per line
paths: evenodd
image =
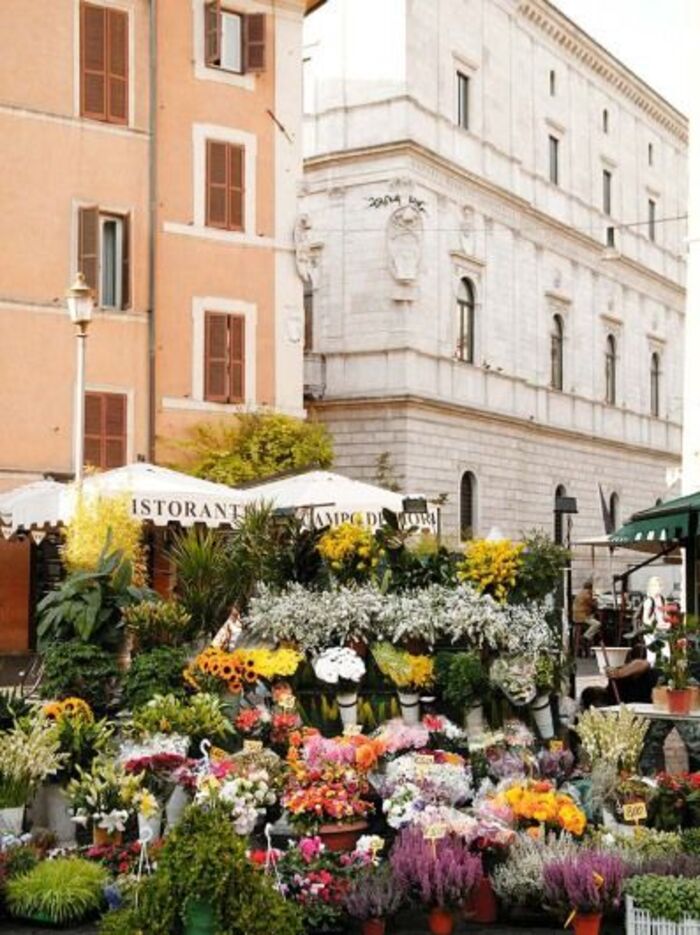
M571 243L577 244L579 247L584 248L589 254L589 265L597 266L597 263L600 262L603 251L603 247L600 241L589 236L588 234L583 233L582 231L569 227L567 224L558 221L550 214L545 214L543 211L540 211L534 207L534 205L532 205L529 201L526 201L524 198L520 198L518 195L513 194L513 192L509 191L507 188L502 188L495 182L492 182L483 176L475 175L473 172L470 172L468 169L457 165L450 159L447 159L446 157L441 156L430 149L427 149L420 143L416 143L415 140L396 140L395 142L391 143L379 143L376 146L362 146L358 147L357 149L346 149L336 152L323 153L319 156L308 157L304 160L304 169L307 173L306 182L309 182L309 170L336 168L346 163L356 163L361 162L362 160L377 159L379 157L391 158L404 156L418 159L421 162L434 167L438 171L445 173L446 175L458 180L461 183L467 183L474 186L475 188L481 189L484 193L493 197L494 199L498 199L501 203L505 202L507 207L515 208L516 210L522 212L523 219L525 221L530 221L533 228L536 230L546 229L548 232L551 232L551 235L557 241L565 239ZM339 179L337 177L334 178L336 184L339 184ZM310 193L314 190L315 189L313 187L309 188ZM508 226L508 221L501 220L500 218L497 218L497 220L499 223L503 223ZM528 227L527 223L522 226L519 233L523 237L530 239L533 243L541 242L544 245L544 239L539 238L538 240L538 238L534 235L533 230ZM623 270L629 271L633 275L644 277L648 282L653 282L660 288L667 290L671 295L674 296L675 301L680 300L682 302L685 298L685 289L683 286L679 285L671 279L668 279L665 276L660 275L659 273L656 273L649 267L638 263L631 257L616 257L616 266ZM639 288L639 283L635 285L633 282L629 282L625 283L625 285L629 285L630 288ZM667 300L664 299L663 301ZM669 297L669 304L671 304L672 301L673 300Z

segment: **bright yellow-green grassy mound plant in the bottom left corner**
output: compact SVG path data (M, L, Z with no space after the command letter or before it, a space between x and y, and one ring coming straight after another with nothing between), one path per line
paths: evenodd
M54 925L81 922L102 905L107 872L99 864L79 858L57 858L7 884L12 915Z

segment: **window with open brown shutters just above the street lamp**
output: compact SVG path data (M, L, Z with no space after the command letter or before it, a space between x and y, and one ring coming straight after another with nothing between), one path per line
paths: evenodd
M78 212L78 270L102 308L130 305L129 216L80 208Z

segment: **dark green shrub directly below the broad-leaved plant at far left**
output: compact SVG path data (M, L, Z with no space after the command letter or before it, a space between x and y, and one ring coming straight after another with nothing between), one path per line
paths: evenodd
M119 681L114 655L100 646L70 640L53 643L44 651L42 698L82 698L94 711L109 706Z

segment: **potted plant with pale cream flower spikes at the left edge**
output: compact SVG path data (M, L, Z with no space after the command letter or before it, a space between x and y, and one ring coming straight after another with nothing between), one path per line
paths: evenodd
M19 835L24 809L40 783L64 760L54 726L44 718L0 734L0 833Z

